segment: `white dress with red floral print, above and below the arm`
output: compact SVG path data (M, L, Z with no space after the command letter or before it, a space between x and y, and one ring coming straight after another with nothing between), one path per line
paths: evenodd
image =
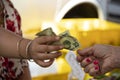
M21 35L21 18L10 0L0 0L4 5L4 28ZM1 15L0 15L1 16ZM0 56L0 80L13 80L28 66L27 60L10 59Z

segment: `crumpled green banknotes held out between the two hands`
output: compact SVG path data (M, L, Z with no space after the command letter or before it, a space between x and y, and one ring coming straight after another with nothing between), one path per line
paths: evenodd
M52 28L44 29L43 31L38 32L36 35L37 36L56 36ZM60 40L53 43L49 43L49 45L64 45L65 49L72 50L72 51L80 47L79 41L75 37L71 36L68 30L60 33L58 36L60 36Z

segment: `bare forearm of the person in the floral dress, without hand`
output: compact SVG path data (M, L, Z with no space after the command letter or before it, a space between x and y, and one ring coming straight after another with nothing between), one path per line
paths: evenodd
M19 51L17 50L17 43L21 38L21 36L0 27L0 56L20 58ZM29 41L28 39L24 39L21 42L22 47L20 52L23 56L25 56L25 48Z

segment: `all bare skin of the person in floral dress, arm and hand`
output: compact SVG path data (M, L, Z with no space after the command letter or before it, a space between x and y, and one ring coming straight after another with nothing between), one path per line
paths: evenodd
M0 0L0 3L1 0ZM55 58L59 57L61 53L59 50L63 48L63 46L58 45L47 45L49 42L54 42L59 40L57 36L43 36L36 37L33 40L25 39L15 33L6 30L3 28L4 25L4 13L3 6L0 4L0 56L7 58L32 58L38 65L42 67L50 66ZM22 39L23 38L23 39ZM17 50L17 43L21 40L19 51ZM28 43L32 41L28 48L28 55L26 56L26 46ZM56 51L54 54L47 54L46 52ZM49 60L49 61L45 61ZM31 75L29 72L29 67L23 67L24 73L16 80L31 80Z

